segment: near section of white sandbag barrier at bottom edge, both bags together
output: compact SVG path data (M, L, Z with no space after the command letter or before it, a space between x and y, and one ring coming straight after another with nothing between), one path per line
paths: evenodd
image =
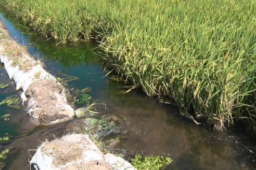
M73 150L73 148L75 150ZM55 153L55 154L52 154ZM69 157L76 153L80 157ZM104 160L105 158L105 160ZM117 169L137 170L129 162L113 154L102 156L97 146L84 134L69 134L60 139L45 141L36 151L30 163L37 170L60 169ZM58 160L60 159L60 160ZM55 160L55 161L54 161ZM96 163L94 166L87 166ZM101 164L101 165L100 165ZM73 165L73 166L72 166ZM98 166L97 166L98 165ZM100 167L100 168L99 168Z

